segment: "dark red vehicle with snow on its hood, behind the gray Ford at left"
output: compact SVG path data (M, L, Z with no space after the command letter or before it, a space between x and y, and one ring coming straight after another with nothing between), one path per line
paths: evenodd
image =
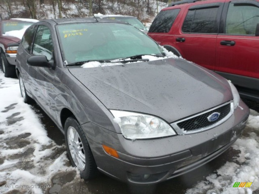
M16 53L25 30L38 20L0 20L0 67L5 77L15 77Z

